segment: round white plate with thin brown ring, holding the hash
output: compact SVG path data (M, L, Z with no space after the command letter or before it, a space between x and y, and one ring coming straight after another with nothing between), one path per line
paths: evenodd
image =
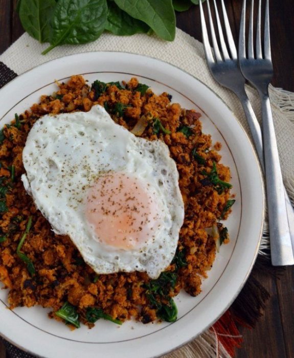
M56 91L54 80L66 81L82 74L89 83L129 80L136 76L155 93L163 91L184 108L202 113L203 132L222 143L222 163L232 172L236 203L225 222L231 241L222 245L209 277L197 297L181 293L175 299L178 319L174 323L122 326L100 320L93 329L70 331L50 320L41 307L7 309L7 290L0 292L0 333L18 347L46 357L83 354L91 357L141 358L160 356L183 345L208 328L227 309L250 273L260 243L264 195L261 172L253 147L231 110L208 87L174 66L140 55L92 52L44 63L17 77L0 91L1 126L9 123L40 95ZM140 352L140 353L139 353Z

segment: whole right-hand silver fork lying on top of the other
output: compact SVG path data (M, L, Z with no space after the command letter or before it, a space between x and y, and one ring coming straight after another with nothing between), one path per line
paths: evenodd
M286 265L293 264L294 260L289 230L287 228L287 208L285 203L283 178L279 161L273 114L268 97L268 85L274 74L272 56L270 54L268 0L266 0L265 3L264 55L262 55L261 46L261 0L259 0L258 4L255 56L253 43L253 9L254 0L251 0L248 55L246 56L246 0L243 1L239 34L239 65L243 76L257 89L261 99L263 151L272 263L273 265Z

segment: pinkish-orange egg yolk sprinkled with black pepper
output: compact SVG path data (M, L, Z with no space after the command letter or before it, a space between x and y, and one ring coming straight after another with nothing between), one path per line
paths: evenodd
M101 175L89 188L86 219L99 242L125 250L154 239L160 226L155 193L140 178L122 172Z

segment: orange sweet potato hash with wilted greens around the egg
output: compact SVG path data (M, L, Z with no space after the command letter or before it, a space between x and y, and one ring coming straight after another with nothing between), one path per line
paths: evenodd
M229 241L220 220L235 200L230 169L217 152L221 145L202 133L199 113L172 103L167 93L155 95L136 78L88 84L72 76L57 84L57 92L41 96L0 131L0 279L9 289L9 306L50 307L49 316L71 328L80 322L91 328L99 318L117 324L130 318L172 322L173 297L181 289L198 295L219 245ZM175 257L156 280L140 272L97 275L70 237L51 230L20 180L22 149L35 121L46 114L88 111L94 104L134 135L164 141L176 163L185 220Z

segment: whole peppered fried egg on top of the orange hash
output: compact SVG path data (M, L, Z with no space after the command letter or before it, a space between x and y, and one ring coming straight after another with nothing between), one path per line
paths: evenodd
M165 143L135 137L96 105L38 119L22 159L36 207L96 273L155 279L170 264L184 204Z

